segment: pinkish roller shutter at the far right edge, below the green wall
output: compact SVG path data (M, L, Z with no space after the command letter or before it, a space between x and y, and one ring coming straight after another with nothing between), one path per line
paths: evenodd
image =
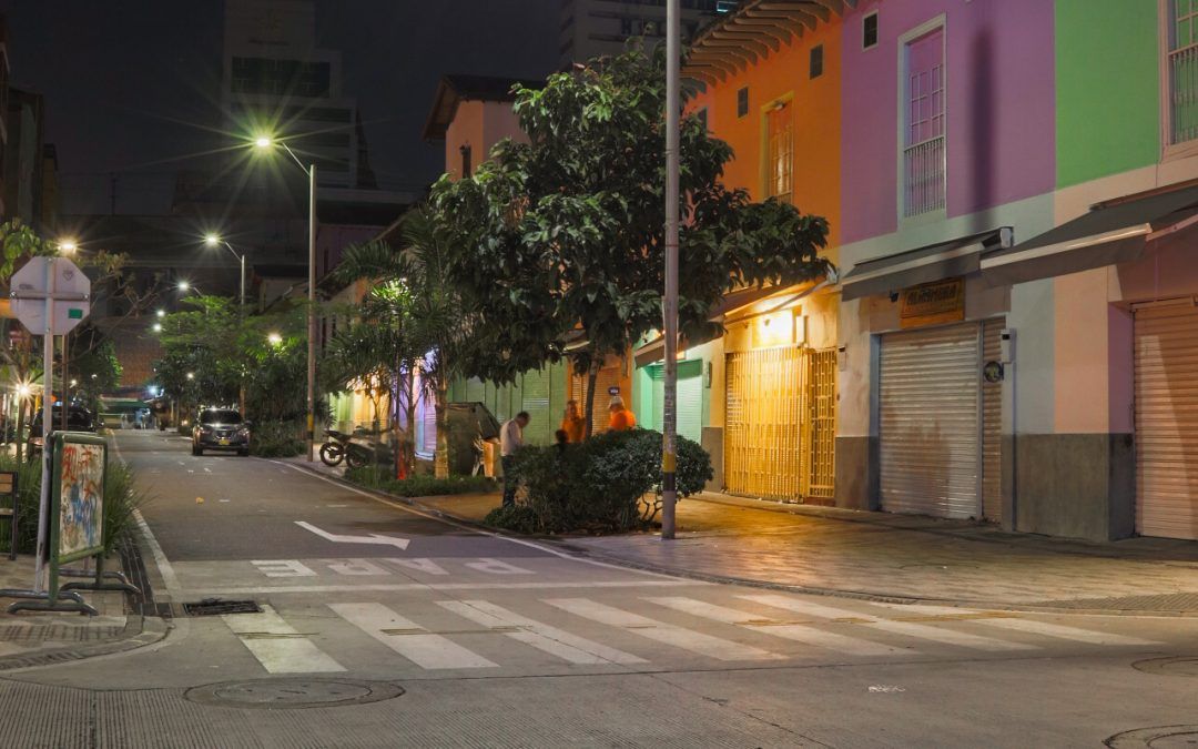
M1198 308L1136 310L1136 531L1198 539Z

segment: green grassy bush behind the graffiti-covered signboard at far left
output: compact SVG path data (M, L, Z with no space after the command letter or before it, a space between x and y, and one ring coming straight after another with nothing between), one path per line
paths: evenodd
M17 463L11 455L0 457L0 471L17 472L17 551L35 554L37 549L37 512L41 503L42 463ZM132 538L137 527L133 512L144 506L147 497L137 488L133 470L109 455L104 475L104 554L114 552L121 543ZM4 534L7 534L5 525ZM4 538L7 549L8 539Z

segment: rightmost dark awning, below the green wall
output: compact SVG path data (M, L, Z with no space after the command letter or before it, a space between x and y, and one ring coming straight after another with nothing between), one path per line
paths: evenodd
M1198 223L1198 180L1090 206L1064 223L981 261L986 283L1017 284L1131 262L1149 242Z

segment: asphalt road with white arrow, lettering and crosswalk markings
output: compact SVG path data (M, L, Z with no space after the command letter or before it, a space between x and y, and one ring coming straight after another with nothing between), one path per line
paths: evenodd
M262 612L180 617L158 645L0 681L0 745L1100 747L1155 726L1181 727L1112 745L1198 737L1198 660L1145 663L1198 654L1196 620L678 580L480 534L276 461L193 458L156 433L117 442L155 496L144 517L162 597ZM358 699L394 687L405 693ZM344 703L278 708L328 699Z

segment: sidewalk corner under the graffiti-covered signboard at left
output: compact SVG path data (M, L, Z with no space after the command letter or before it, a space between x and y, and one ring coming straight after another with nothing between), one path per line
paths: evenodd
M68 578L67 581L75 578ZM34 581L34 557L10 562L0 557L0 587L28 590ZM16 598L0 598L0 671L44 663L105 654L132 646L141 634L143 617L129 614L125 593L80 591L99 616L73 612L8 614Z

